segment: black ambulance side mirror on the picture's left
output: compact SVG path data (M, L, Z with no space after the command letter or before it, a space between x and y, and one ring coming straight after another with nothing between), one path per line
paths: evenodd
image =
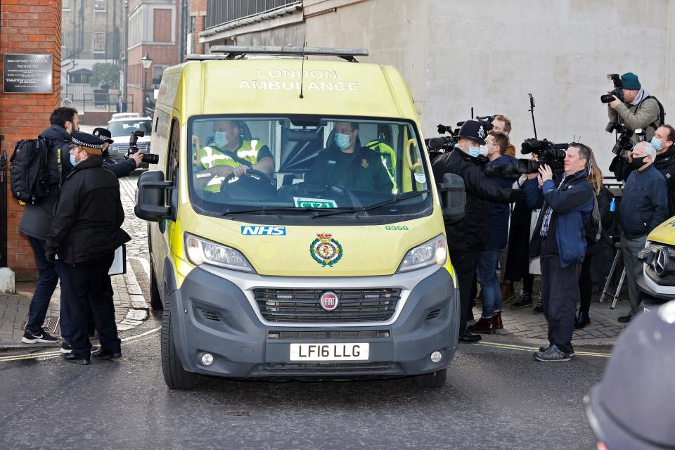
M136 217L143 220L158 222L162 219L172 219L174 211L166 205L167 191L173 191L172 181L166 181L164 172L153 170L139 176L138 199L134 207ZM172 195L169 195L172 198Z

